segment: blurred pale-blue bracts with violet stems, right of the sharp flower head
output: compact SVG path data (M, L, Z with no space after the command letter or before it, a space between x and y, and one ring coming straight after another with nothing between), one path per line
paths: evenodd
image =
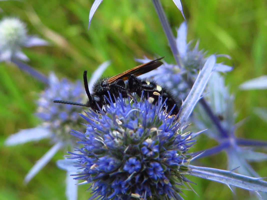
M206 101L211 106L215 117L223 131L218 131L217 126L205 112L202 106L197 105L191 116L193 130L208 128L205 134L218 142L217 146L205 149L202 154L196 158L210 156L221 151L227 155L227 169L236 171L251 177L259 177L256 171L249 165L249 162L262 162L267 160L267 154L257 152L252 147L267 147L267 141L238 138L235 133L242 124L236 123L236 112L234 108L234 96L229 94L225 85L224 78L218 73L213 72L210 81L205 90ZM266 193L261 194L267 198ZM259 197L260 199L260 197Z

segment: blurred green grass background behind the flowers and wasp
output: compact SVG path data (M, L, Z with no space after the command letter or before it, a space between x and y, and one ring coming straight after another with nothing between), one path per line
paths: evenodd
M161 1L176 35L183 18L171 0ZM23 49L29 65L48 75L82 79L83 70L93 72L102 62L112 63L104 75L110 76L137 66L134 58L146 55L166 56L174 62L167 40L151 1L105 0L97 9L87 30L93 0L0 1L4 16L20 18L29 34L40 35L50 46ZM188 20L188 41L200 40L200 48L209 54L228 54L226 61L234 70L226 74L226 82L235 95L237 122L246 119L237 129L239 137L267 140L266 123L253 113L254 107L267 107L266 90L240 91L242 82L267 73L267 2L265 0L187 0L182 1ZM37 200L65 199L65 172L55 166L66 150L62 150L28 185L23 178L33 164L51 147L49 141L5 147L3 142L12 133L38 125L34 116L37 93L44 85L20 71L16 66L0 63L0 199ZM68 133L66 133L68 134ZM195 150L215 145L205 136L198 138ZM226 155L201 160L205 166L226 169ZM252 163L262 176L267 176L266 162ZM250 199L249 193L200 178L193 191L184 191L185 199ZM78 199L87 199L86 185L79 186ZM252 198L253 199L253 198Z

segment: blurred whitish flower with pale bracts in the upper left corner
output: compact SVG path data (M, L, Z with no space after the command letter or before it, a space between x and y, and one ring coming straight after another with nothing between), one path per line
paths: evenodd
M6 17L0 21L0 62L11 59L27 61L22 47L48 45L43 39L27 35L26 25L17 18Z

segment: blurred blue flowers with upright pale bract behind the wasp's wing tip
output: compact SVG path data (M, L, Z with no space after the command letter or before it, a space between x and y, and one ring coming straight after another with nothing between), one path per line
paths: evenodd
M159 68L150 71L146 74L140 75L141 78L154 78L157 82L167 86L172 90L173 94L180 99L185 99L189 93L191 87L184 81L183 76L188 76L193 80L196 79L198 71L202 69L208 57L206 52L198 50L198 43L191 48L192 42L187 43L187 25L183 22L177 30L176 47L180 54L180 64L182 69L178 65L168 64L164 62ZM227 55L216 55L216 57L227 57ZM151 61L150 59L136 59L141 63ZM232 70L232 67L224 65L223 63L215 63L215 71L227 72ZM164 74L164 76L162 75Z

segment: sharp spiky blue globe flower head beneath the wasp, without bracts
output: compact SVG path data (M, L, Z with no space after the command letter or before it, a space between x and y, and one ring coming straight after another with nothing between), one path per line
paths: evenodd
M87 131L72 133L83 147L70 158L84 169L76 179L92 184L89 199L182 199L188 180L180 173L187 170L194 134L182 133L177 117L151 100L118 98L105 113L83 115Z

